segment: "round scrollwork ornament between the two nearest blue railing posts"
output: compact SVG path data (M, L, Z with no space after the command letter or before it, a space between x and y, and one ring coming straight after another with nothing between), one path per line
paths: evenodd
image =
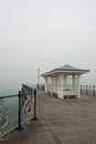
M24 113L30 116L32 114L32 100L28 99L23 106Z

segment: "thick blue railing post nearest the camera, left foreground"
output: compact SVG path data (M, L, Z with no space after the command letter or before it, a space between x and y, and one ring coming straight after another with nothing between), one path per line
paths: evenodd
M19 91L19 116L18 116L18 127L15 128L17 131L21 131L23 130L22 125L21 125L21 91Z

